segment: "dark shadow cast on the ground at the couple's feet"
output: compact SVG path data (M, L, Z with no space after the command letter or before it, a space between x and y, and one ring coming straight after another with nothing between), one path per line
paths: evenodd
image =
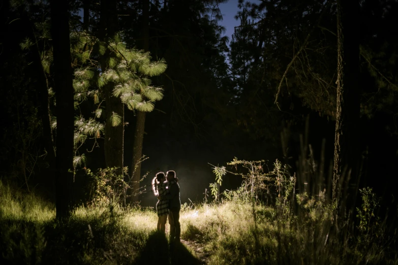
M168 244L164 234L154 232L149 235L135 264L200 264L192 253L181 243Z

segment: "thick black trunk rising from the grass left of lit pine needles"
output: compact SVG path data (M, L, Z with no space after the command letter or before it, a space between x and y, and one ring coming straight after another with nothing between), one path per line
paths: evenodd
M74 149L74 90L72 85L67 0L51 0L51 35L56 95L56 218L71 214Z

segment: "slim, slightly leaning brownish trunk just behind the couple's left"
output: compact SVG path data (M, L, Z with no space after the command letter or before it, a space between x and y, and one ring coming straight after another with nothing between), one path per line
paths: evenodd
M165 2L166 5L166 2ZM149 51L149 0L142 1L142 22L143 22L143 49ZM138 189L140 187L139 180L141 178L141 163L139 160L142 156L142 143L144 140L144 129L145 129L145 117L146 112L137 112L137 121L134 134L133 143L133 162L131 165L131 180L133 186L133 195L131 198L132 202L138 201Z

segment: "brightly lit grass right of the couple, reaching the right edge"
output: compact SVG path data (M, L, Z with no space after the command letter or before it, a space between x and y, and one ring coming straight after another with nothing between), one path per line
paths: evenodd
M364 243L360 231L336 231L314 211L292 218L278 211L256 205L255 222L247 203L201 206L182 214L182 238L202 243L209 264L398 264L396 241L387 235Z

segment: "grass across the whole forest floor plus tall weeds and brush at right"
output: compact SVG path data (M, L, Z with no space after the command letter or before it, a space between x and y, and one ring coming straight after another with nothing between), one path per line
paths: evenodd
M51 203L0 181L0 264L398 265L398 241L388 229L396 225L378 218L376 194L362 189L361 207L346 214L344 180L332 200L330 175L304 158L297 175L278 162L254 172L262 169L256 164L247 167L246 184L221 200L185 205L181 238L192 248L168 246L151 210L80 207L58 222ZM256 181L266 190L262 200Z

